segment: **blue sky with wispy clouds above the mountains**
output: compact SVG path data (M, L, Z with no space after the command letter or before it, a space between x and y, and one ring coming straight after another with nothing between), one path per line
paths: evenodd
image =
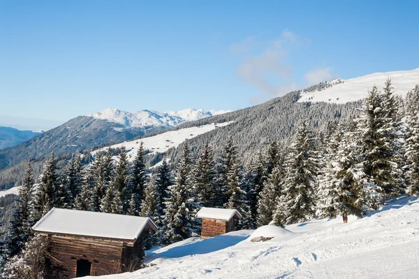
M417 1L0 0L1 115L238 109L419 67Z

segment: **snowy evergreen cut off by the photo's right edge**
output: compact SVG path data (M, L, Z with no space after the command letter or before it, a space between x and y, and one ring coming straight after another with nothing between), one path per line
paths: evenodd
M419 194L419 85L407 94L407 133L406 133L406 193Z

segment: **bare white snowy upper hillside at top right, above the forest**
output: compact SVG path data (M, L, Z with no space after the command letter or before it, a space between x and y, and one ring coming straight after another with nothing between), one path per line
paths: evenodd
M328 103L358 101L367 96L368 90L371 90L373 85L382 88L385 80L388 78L391 78L392 87L394 87L395 93L405 96L408 91L419 84L419 69L372 73L371 75L344 80L344 83L341 83L343 80L339 79L339 82L335 82L335 85L332 85L332 87L326 88L325 90L303 93L299 101L324 101Z

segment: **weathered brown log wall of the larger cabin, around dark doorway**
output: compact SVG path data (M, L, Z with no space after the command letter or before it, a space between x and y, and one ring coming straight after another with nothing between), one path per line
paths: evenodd
M48 238L51 264L62 269L59 278L74 278L78 259L91 262L91 276L117 273L123 262L123 251L124 257L129 257L131 252L140 249L134 242L109 239L60 235L48 235Z

